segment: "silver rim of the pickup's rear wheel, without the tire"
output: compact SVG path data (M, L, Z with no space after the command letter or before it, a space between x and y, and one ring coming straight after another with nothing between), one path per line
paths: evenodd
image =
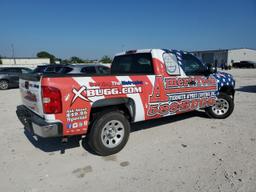
M107 148L118 146L124 138L124 125L118 120L112 120L105 124L101 132L101 141Z

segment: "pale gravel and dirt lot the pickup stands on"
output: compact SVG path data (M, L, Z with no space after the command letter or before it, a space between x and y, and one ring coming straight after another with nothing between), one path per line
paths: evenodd
M237 91L229 118L193 112L138 123L109 157L76 138L36 141L16 118L19 90L0 91L0 191L255 192L256 70L230 72Z

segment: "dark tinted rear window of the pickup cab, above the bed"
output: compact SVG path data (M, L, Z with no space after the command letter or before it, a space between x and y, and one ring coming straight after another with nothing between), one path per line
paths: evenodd
M111 66L111 73L154 74L151 53L116 56Z

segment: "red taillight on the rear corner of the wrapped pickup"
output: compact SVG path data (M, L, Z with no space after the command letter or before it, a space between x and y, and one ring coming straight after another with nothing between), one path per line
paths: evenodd
M56 114L62 112L61 93L59 89L42 86L42 102L44 113Z

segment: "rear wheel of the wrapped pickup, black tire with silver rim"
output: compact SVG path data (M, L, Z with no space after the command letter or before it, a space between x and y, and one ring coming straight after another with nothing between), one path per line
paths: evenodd
M92 123L87 136L91 149L98 155L108 156L123 149L130 135L130 123L119 111L105 111Z

